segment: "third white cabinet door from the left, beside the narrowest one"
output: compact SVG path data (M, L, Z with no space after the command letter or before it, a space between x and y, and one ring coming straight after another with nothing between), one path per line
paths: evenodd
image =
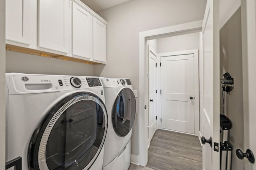
M92 16L72 3L72 56L92 59Z

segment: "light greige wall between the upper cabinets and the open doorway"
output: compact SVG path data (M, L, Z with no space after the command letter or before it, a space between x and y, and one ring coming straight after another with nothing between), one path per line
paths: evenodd
M99 12L99 15L108 21L108 64L95 65L94 75L128 77L133 88L138 90L139 32L202 20L205 6L206 0L131 0ZM139 106L138 99L136 106ZM138 131L139 124L136 121L133 129L136 134L132 137L132 154L140 154Z

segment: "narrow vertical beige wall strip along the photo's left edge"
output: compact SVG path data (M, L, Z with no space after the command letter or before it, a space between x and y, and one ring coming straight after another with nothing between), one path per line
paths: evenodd
M5 0L0 0L0 169L5 169Z

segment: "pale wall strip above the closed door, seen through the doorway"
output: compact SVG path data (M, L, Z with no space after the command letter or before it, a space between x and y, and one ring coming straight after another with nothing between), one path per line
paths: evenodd
M199 32L157 39L157 52L199 49Z

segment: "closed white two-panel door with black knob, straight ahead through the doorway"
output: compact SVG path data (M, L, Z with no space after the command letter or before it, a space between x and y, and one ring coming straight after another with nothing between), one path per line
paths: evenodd
M194 54L161 57L161 127L194 134Z

